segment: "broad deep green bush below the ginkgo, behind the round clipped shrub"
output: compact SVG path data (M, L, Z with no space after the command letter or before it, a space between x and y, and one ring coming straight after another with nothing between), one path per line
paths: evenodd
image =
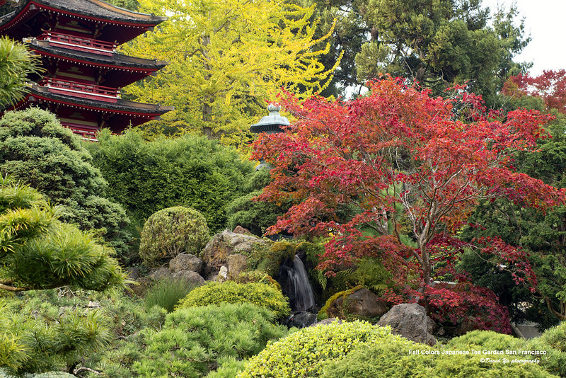
M129 130L121 136L101 132L98 141L88 149L112 199L142 222L166 207L186 206L202 212L211 231L221 231L226 205L242 194L252 171L236 150L205 137L147 142Z

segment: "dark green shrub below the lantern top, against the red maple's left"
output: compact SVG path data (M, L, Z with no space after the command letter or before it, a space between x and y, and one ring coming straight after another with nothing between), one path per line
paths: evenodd
M253 200L253 197L260 195L270 181L270 171L265 168L255 171L253 176L250 176L244 188L244 191L249 193L236 198L226 207L229 229L241 226L254 235L262 236L267 227L277 222L279 215L287 212L288 205Z

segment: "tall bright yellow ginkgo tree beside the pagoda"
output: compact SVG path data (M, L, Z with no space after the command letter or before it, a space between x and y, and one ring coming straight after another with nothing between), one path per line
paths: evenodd
M286 88L301 96L331 79L316 46L313 8L275 0L140 0L141 11L166 15L154 32L122 47L129 55L169 62L124 89L136 101L173 105L158 130L198 132L238 143Z

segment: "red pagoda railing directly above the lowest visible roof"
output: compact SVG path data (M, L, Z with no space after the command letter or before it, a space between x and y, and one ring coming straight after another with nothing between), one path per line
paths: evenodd
M40 82L40 86L49 88L52 93L67 96L90 98L91 100L115 103L120 98L120 90L110 86L97 86L94 84L77 83L76 81L62 80L49 77Z

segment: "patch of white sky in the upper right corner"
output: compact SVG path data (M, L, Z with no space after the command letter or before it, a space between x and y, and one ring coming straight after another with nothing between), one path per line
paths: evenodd
M492 13L497 5L504 9L514 3L525 18L525 32L531 43L515 62L533 62L531 76L543 69L566 69L566 1L565 0L483 0Z

